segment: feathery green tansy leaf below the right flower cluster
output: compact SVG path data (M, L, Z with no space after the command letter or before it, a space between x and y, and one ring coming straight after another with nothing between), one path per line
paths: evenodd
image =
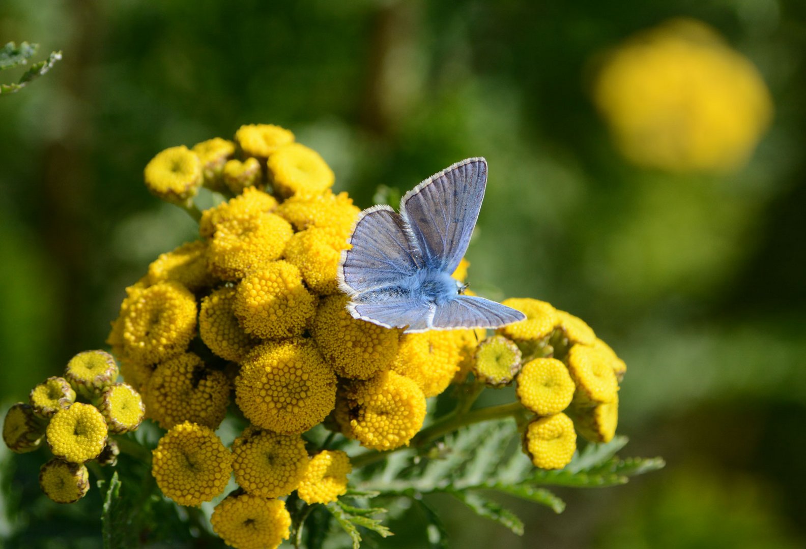
M523 522L488 493L503 493L539 503L555 513L562 513L565 503L545 485L596 487L624 484L628 477L663 467L660 458L621 460L616 452L624 448L624 436L607 444L588 444L565 469L534 469L520 450L520 435L511 420L476 423L448 435L443 443L426 449L422 455L413 450L389 455L383 466L372 471L360 484L381 496L423 497L446 493L455 497L480 517L491 519L523 534ZM437 449L437 452L434 452ZM424 506L433 530L443 529L434 514ZM442 539L440 536L437 539ZM434 547L439 547L434 545Z

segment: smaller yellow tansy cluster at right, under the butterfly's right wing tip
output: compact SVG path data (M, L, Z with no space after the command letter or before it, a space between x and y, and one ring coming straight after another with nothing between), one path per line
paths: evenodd
M503 302L526 315L482 341L472 363L477 382L509 383L531 415L523 450L535 467L562 469L576 435L609 442L618 422L618 384L626 365L584 320L530 298Z

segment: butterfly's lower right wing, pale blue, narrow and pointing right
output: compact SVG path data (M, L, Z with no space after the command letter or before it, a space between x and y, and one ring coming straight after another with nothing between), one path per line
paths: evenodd
M526 320L526 315L501 303L476 295L457 295L436 306L432 328L500 328L520 320Z

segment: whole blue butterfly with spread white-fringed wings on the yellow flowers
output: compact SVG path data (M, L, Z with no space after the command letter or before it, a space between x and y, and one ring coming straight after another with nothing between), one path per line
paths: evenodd
M365 209L342 252L339 287L347 311L360 320L404 332L498 328L526 319L495 301L462 295L451 278L479 217L487 161L467 159L407 192L401 213Z

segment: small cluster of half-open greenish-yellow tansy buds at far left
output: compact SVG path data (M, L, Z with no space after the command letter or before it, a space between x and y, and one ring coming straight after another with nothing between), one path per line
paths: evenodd
M8 448L31 452L46 443L54 456L39 471L39 486L54 502L84 497L89 490L85 464L114 465L119 448L110 436L134 431L143 421L140 394L117 379L118 365L109 353L78 353L64 377L39 383L29 402L18 402L6 413Z

